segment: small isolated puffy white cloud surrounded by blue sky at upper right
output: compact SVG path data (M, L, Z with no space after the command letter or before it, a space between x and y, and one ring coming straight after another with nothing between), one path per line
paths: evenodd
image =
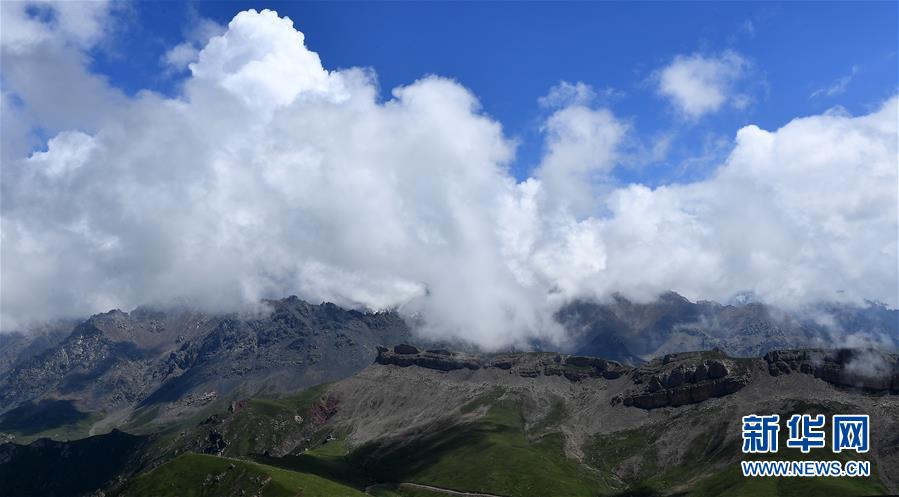
M678 55L657 73L658 91L687 119L716 112L728 101L744 108L748 96L735 93L734 84L748 65L742 55L730 50L716 57Z

